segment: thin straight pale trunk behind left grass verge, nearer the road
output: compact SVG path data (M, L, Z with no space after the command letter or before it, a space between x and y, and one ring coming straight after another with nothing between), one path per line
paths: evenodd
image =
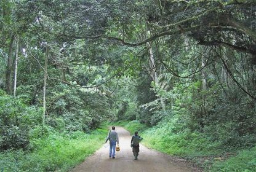
M47 63L48 63L49 47L46 47L46 57L44 59L44 87L43 87L43 114L42 122L46 120L46 80L47 80Z

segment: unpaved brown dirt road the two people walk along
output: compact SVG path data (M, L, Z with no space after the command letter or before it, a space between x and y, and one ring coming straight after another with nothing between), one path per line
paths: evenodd
M128 131L116 127L119 135L121 151L116 152L116 158L109 158L109 142L88 157L85 162L76 166L72 171L86 172L188 172L199 171L187 163L181 162L169 155L146 148L140 144L138 160L134 160ZM146 138L144 138L146 139Z

